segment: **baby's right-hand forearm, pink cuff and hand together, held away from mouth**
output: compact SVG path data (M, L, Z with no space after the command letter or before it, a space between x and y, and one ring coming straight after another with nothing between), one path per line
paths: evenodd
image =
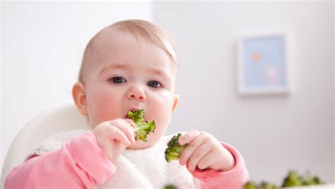
M240 152L213 135L192 130L182 135L179 142L180 145L189 143L182 151L180 164L187 164L202 188L242 188L249 181Z

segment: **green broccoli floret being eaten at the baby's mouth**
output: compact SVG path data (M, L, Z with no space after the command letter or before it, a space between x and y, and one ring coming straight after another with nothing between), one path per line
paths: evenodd
M140 139L146 142L146 137L149 133L155 130L155 121L145 121L143 118L144 110L129 111L127 117L132 119L136 124L135 140Z

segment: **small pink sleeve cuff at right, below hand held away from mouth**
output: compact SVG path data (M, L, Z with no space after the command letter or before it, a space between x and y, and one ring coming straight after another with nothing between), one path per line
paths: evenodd
M201 181L201 188L230 188L241 189L243 185L249 181L249 173L245 166L245 161L235 147L222 142L233 157L235 158L235 166L230 171L216 171L213 169L200 170L196 169L192 172L195 178Z

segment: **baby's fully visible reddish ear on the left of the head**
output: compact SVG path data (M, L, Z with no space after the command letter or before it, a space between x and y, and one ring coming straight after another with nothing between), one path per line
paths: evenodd
M87 104L86 104L86 93L85 93L85 85L81 82L77 82L72 87L72 98L74 99L74 103L78 111L81 112L82 115L86 116L87 112Z

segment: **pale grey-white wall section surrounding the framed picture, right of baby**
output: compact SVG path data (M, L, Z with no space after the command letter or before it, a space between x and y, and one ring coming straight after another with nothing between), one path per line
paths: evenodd
M197 128L242 153L254 181L281 184L289 169L334 183L334 22L332 1L154 2L155 23L180 56L180 104L169 133ZM235 42L245 30L290 34L292 90L240 97Z

